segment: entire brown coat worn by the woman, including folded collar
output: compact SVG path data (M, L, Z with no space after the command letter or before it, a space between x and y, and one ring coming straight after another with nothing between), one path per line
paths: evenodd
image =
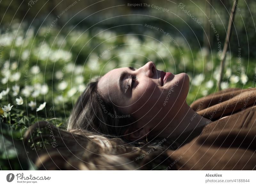
M171 170L256 170L256 88L227 89L191 104L212 120L168 150ZM185 139L185 138L184 138Z

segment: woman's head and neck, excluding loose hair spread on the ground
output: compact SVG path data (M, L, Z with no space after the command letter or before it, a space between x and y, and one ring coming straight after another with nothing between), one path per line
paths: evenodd
M153 62L135 69L111 70L92 81L78 99L68 130L84 128L127 141L176 138L211 120L196 115L186 103L185 73L157 70Z

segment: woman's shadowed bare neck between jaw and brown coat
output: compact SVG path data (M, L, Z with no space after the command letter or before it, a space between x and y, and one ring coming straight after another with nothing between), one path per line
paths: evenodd
M196 128L204 127L207 123L211 122L211 120L195 112L185 102L174 117L171 115L170 117L166 117L163 123L168 125L163 127L163 130L161 130L163 132L159 136L177 137Z

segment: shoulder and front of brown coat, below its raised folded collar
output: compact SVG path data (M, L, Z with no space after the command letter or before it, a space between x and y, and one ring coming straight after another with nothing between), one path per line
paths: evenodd
M253 170L255 120L256 106L252 106L210 123L201 135L177 150L168 150L167 155L177 170Z

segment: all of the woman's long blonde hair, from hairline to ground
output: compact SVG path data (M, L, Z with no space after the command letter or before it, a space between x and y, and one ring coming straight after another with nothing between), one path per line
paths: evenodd
M151 170L168 167L172 162L165 150L176 149L179 144L175 140L150 137L149 143L143 139L125 140L124 131L134 119L132 116L109 116L108 113L119 116L125 113L100 96L98 82L99 78L90 82L78 98L68 119L67 130L48 121L37 122L28 129L24 143L36 166L50 170ZM104 112L102 105L108 113ZM41 133L35 132L38 130Z

